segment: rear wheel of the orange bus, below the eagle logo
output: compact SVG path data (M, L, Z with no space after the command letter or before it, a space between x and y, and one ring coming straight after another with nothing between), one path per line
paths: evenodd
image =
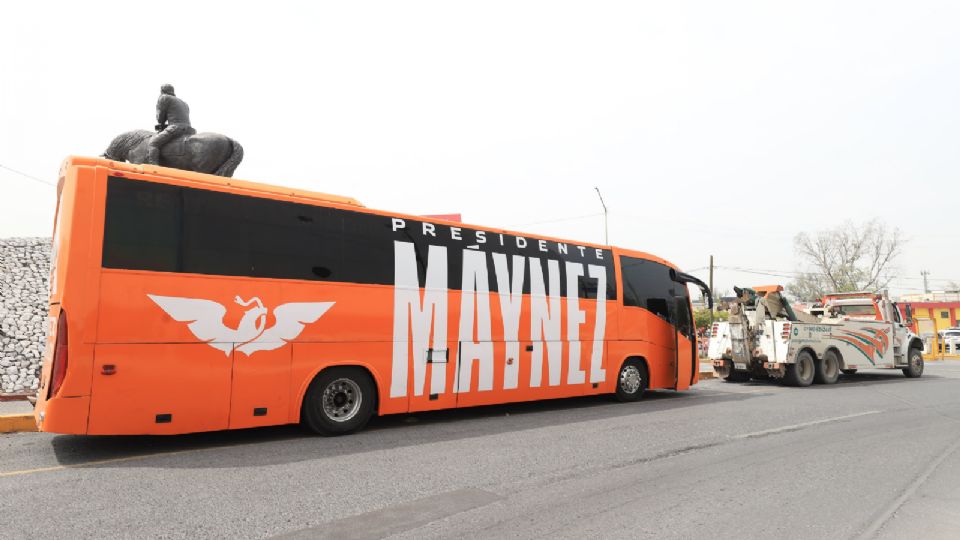
M320 372L303 398L300 422L321 435L361 429L373 416L376 386L366 370L333 367Z

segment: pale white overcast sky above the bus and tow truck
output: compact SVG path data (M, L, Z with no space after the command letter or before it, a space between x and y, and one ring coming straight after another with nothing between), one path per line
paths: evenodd
M892 275L960 282L957 2L5 2L0 165L54 183L170 82L239 178L610 243L717 289L881 218ZM54 189L0 168L0 237Z

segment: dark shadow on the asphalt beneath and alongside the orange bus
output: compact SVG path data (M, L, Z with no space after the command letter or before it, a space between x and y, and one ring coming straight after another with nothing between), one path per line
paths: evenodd
M587 396L378 417L363 431L344 437L319 437L288 425L171 436L61 435L52 439L52 447L59 464L73 467L256 467L643 416L763 395L657 391L636 403ZM571 430L571 435L575 433ZM190 457L183 459L187 452Z

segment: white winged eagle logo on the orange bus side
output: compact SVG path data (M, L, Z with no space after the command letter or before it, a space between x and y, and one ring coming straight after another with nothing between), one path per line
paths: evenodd
M247 307L256 304L243 314L236 329L223 324L227 308L213 300L181 298L148 294L167 315L175 321L185 322L197 339L230 356L236 346L238 352L250 356L257 351L272 351L287 344L303 332L306 325L314 323L333 306L334 302L291 302L273 310L277 322L267 328L267 313L263 302L254 296L244 301L239 296L234 302Z

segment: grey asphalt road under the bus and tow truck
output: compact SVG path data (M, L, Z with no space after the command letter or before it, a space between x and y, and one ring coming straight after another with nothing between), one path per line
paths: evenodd
M960 363L171 438L0 435L0 537L956 538Z

